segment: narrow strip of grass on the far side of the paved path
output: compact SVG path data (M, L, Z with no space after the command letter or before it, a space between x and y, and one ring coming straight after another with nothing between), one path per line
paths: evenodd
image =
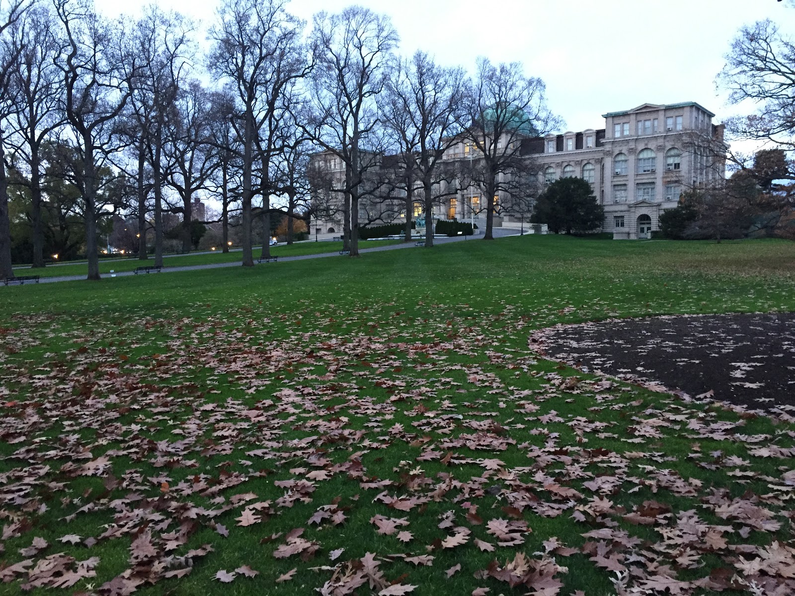
M359 242L360 249L374 248L376 246L389 246L400 244L399 240L366 240ZM279 244L270 247L270 253L278 257L297 257L304 254L334 253L342 250L342 242L299 242L291 246ZM262 247L254 248L254 259L259 257ZM241 260L241 252L233 250L230 253L221 251L215 253L202 254L180 254L165 257L163 265L165 267L185 267L188 265L208 265L211 263L236 263ZM139 261L137 258L125 260L100 260L99 273L102 275L122 271L133 271L142 265L152 265L154 257L151 255L147 261ZM88 265L85 262L68 263L64 265L50 265L44 269L30 269L29 267L17 267L14 269L17 275L38 275L40 277L67 277L72 275L87 275Z

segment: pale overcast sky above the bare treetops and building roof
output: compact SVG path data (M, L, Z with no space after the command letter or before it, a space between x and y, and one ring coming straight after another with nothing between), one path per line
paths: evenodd
M118 0L95 0L108 15ZM212 0L160 0L200 19L215 14ZM346 0L293 0L288 8L311 25L319 10L336 12ZM720 122L736 109L715 89L715 75L739 27L770 18L795 33L793 0L362 0L389 14L401 53L418 48L441 64L473 70L478 56L521 61L541 77L549 106L567 130L603 128L601 114L642 103L698 102ZM128 5L129 6L129 5ZM135 9L133 9L135 10ZM562 132L562 131L561 131Z

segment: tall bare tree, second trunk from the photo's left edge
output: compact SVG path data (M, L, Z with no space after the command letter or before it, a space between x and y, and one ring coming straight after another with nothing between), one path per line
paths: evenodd
M33 267L44 267L44 228L42 225L42 145L63 123L64 90L55 60L60 53L56 39L56 20L48 6L37 5L10 29L14 51L18 53L12 76L17 88L14 114L14 153L29 175L31 223L33 227Z

